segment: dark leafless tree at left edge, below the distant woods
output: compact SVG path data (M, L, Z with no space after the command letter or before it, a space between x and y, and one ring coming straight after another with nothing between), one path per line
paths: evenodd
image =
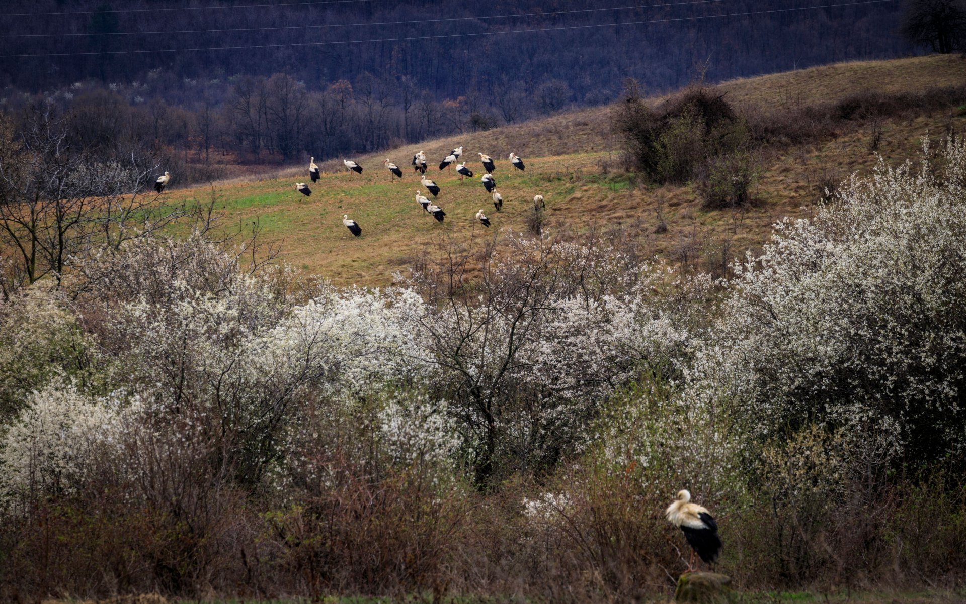
M65 120L49 108L21 132L0 124L0 244L14 250L26 283L53 275L71 259L119 247L188 213L144 196L156 166L136 153L122 161L71 149Z

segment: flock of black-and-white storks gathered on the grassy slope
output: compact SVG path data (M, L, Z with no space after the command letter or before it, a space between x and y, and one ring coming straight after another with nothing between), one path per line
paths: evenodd
M440 171L450 169L453 165L455 165L456 173L459 175L461 181L464 178L473 178L473 171L467 166L466 160L464 160L462 163L457 163L462 155L462 146L449 151L449 153L440 161ZM479 155L480 163L483 165L483 170L485 171L485 174L482 178L480 178L480 181L483 184L483 188L486 189L487 194L493 201L493 206L498 212L503 208L503 197L497 191L497 180L493 178L493 173L497 170L497 164L490 155L486 155L484 153L477 153L477 155ZM509 160L510 165L513 166L513 168L520 171L526 170L524 160L516 153L510 153ZM355 161L343 159L342 163L349 172L350 178L352 178L353 174L362 174L362 166ZM411 164L413 173L419 175L419 184L422 185L422 188L426 189L426 192L429 195L433 196L433 201L430 201L430 198L422 194L422 189L416 189L416 203L422 206L423 210L433 216L433 218L435 218L438 222L443 222L446 217L446 212L436 204L436 200L440 196L440 185L431 178L426 178L426 171L428 170L429 166L429 163L426 159L426 154L422 150L416 151L416 153L412 155ZM398 164L393 163L388 157L385 158L383 166L389 172L389 180L404 178L402 168L400 168ZM315 164L315 157L309 159L308 174L313 183L317 182L320 178L319 166ZM305 197L311 197L312 195L312 190L304 182L297 182L296 190ZM534 207L544 207L543 196L535 196L533 198L533 204ZM490 219L486 214L483 213L483 208L480 208L476 212L475 218L484 227L490 227ZM342 224L345 225L346 228L349 229L349 232L353 233L356 237L362 234L362 229L359 227L358 223L356 223L355 220L350 219L348 214L342 216Z

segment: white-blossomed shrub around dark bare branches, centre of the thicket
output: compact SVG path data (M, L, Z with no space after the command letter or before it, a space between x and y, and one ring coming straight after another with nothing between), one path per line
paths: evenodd
M668 274L610 241L511 234L507 247L458 250L440 273L409 282L429 300L414 329L477 480L497 460L501 471L531 470L580 451L602 398L680 360L702 291L662 295ZM467 272L477 261L479 273Z

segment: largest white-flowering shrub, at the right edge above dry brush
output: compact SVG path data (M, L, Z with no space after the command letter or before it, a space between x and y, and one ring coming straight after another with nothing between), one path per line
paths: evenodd
M735 266L696 354L700 392L758 434L875 425L919 460L966 448L966 145L880 161L814 220L785 220Z

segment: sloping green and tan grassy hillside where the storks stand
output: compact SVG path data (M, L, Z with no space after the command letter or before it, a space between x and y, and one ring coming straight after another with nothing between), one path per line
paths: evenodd
M966 61L932 56L894 61L848 63L765 75L726 82L718 87L740 111L775 111L835 103L859 93L917 94L933 87L966 86ZM658 104L663 96L654 96ZM964 100L966 102L966 100ZM966 109L916 111L878 124L880 152L887 160L914 156L929 133L966 130ZM232 221L250 223L256 217L271 241L282 243L282 258L306 271L319 273L341 285L380 286L418 254L430 253L434 243L448 236L493 236L507 229L526 229L526 214L535 194L547 200L546 228L582 228L591 223L620 225L638 239L642 251L669 263L700 262L721 265L760 244L770 225L782 216L809 215L823 187L874 162L869 124L857 121L823 140L783 146L768 151L764 171L754 193L755 204L744 210L706 211L692 186L645 186L620 168L617 141L610 133L609 109L596 108L552 118L466 133L379 155L355 157L364 168L361 177L340 170L341 162L327 162L311 199L295 189L306 181L303 167L280 178L253 182L215 183L219 208ZM437 166L448 150L463 145L464 158L476 173L460 182L455 172ZM382 161L389 157L409 166L417 150L427 154L427 174L441 187L437 203L446 211L437 223L414 201L421 189L418 175L404 170L402 180L390 181ZM479 182L477 151L497 159L495 178L504 209L494 210ZM513 170L507 154L526 160L526 173ZM425 193L425 190L423 193ZM209 189L173 191L174 198L205 199ZM493 228L484 230L473 218L476 210L490 216ZM655 233L658 212L668 229ZM343 227L349 214L362 228L358 239ZM485 233L484 233L485 232Z

